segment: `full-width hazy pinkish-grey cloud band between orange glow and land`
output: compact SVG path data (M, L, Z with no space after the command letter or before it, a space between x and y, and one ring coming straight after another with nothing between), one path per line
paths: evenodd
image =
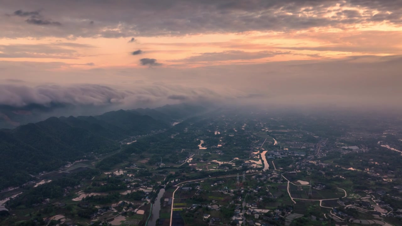
M402 55L365 55L341 60L299 60L252 65L222 64L199 68L161 67L158 70L148 70L146 67L82 70L77 67L66 71L52 70L59 67L55 63L48 65L43 62L0 61L0 67L6 68L2 72L3 79L22 79L26 81L23 83L24 87L28 87L23 90L9 88L11 85L4 82L7 85L0 87L0 104L24 106L31 103L63 103L110 106L111 110L115 110L208 100L234 105L256 103L262 107L271 107L271 103L305 107L326 103L344 107L370 106L388 109L402 106L401 66ZM36 86L40 82L62 84L66 80L80 83L102 81L114 91L108 91L103 86L90 85ZM151 83L154 81L159 83ZM12 85L19 87L22 84ZM104 101L98 103L102 99L98 97L100 94L88 91L92 88L84 88L85 91L82 91L78 88L82 86L97 89L100 94L112 92L113 95L107 95L103 98ZM47 91L43 92L43 89ZM5 90L12 94L5 93ZM114 95L119 98L113 97ZM85 101L87 99L90 101ZM108 99L116 101L107 101Z

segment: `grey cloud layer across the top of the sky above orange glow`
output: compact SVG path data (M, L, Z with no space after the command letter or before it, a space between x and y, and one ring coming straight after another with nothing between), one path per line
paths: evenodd
M400 0L136 0L115 4L113 0L66 2L62 0L0 0L5 10L21 5L46 7L46 12L66 29L31 30L18 27L12 18L2 21L4 37L132 37L134 35L188 35L246 31L289 31L314 27L369 25L371 22L402 23ZM345 6L336 8L337 5ZM108 13L105 14L105 8ZM353 8L356 8L353 9ZM350 9L350 10L349 10ZM34 15L37 11L17 10L18 15ZM375 12L375 13L374 13ZM328 16L332 14L332 16ZM153 16L151 16L153 15ZM33 24L59 25L46 18L30 20ZM84 21L84 22L83 22ZM96 21L88 29L88 21ZM15 25L15 26L13 26ZM69 25L69 26L67 26ZM135 40L135 39L131 39ZM129 42L132 42L132 41Z

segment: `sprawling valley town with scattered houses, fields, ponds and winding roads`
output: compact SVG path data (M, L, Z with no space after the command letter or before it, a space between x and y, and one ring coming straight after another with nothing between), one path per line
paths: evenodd
M4 189L0 212L45 225L400 225L402 136L370 129L257 112L194 117Z

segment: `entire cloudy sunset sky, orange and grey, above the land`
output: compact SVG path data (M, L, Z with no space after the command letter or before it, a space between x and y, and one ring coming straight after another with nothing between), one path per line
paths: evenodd
M0 6L0 107L402 106L402 0Z

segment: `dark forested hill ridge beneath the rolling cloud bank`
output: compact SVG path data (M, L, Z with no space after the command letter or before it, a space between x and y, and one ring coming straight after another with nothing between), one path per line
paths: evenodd
M171 110L174 106L177 111L187 111L175 114ZM111 111L97 116L51 117L15 129L1 129L0 190L29 181L29 174L53 171L91 152L100 154L118 150L120 141L129 136L166 129L178 119L177 115L189 117L200 111L189 105L169 105L168 109L165 113L162 107L158 110Z

